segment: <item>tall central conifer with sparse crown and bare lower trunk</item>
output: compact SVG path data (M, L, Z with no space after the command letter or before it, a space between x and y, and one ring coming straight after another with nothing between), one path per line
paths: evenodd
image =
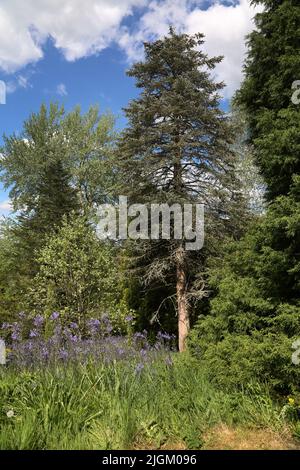
M125 109L129 124L119 145L121 190L130 201L205 204L204 250L187 251L184 240L174 239L138 245L146 277L174 283L180 351L190 329L194 274L203 273L208 251L234 226L241 207L232 129L219 108L223 84L210 75L222 58L208 58L202 45L202 34L172 28L164 39L145 44L144 62L128 72L141 94Z

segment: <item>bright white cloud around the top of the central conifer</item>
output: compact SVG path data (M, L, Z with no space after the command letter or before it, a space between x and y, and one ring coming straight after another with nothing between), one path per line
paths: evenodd
M230 97L242 79L245 36L253 30L253 17L261 8L252 7L249 0L227 6L220 1L212 1L207 9L203 5L201 0L197 7L191 0L154 0L134 34L123 28L119 44L131 60L136 60L142 57L142 42L165 35L170 24L189 34L201 32L205 35L205 52L209 56L224 56L215 69L215 78L225 82L224 95Z

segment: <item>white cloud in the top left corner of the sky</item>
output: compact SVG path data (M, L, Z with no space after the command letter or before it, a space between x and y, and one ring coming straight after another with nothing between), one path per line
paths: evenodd
M1 0L0 68L12 73L43 57L51 37L67 60L101 51L145 0Z

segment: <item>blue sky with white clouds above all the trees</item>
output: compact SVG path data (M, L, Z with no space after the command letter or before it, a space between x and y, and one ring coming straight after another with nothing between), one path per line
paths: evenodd
M7 90L0 144L3 133L19 133L28 115L51 101L83 111L97 103L122 128L122 107L137 95L126 69L143 57L143 41L163 36L170 24L203 32L205 51L224 55L215 79L227 85L226 106L242 78L254 13L248 0L0 0L0 80ZM8 213L0 186L0 214Z

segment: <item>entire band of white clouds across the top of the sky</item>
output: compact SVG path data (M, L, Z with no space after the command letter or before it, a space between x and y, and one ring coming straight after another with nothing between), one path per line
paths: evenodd
M173 24L178 31L203 32L207 53L225 56L216 78L226 82L230 96L242 77L244 37L253 29L256 10L249 0L205 5L204 0L1 0L0 70L13 73L41 59L49 37L69 61L113 43L136 60L143 41L161 37ZM136 10L136 21L125 27L123 20L137 7L143 9Z

